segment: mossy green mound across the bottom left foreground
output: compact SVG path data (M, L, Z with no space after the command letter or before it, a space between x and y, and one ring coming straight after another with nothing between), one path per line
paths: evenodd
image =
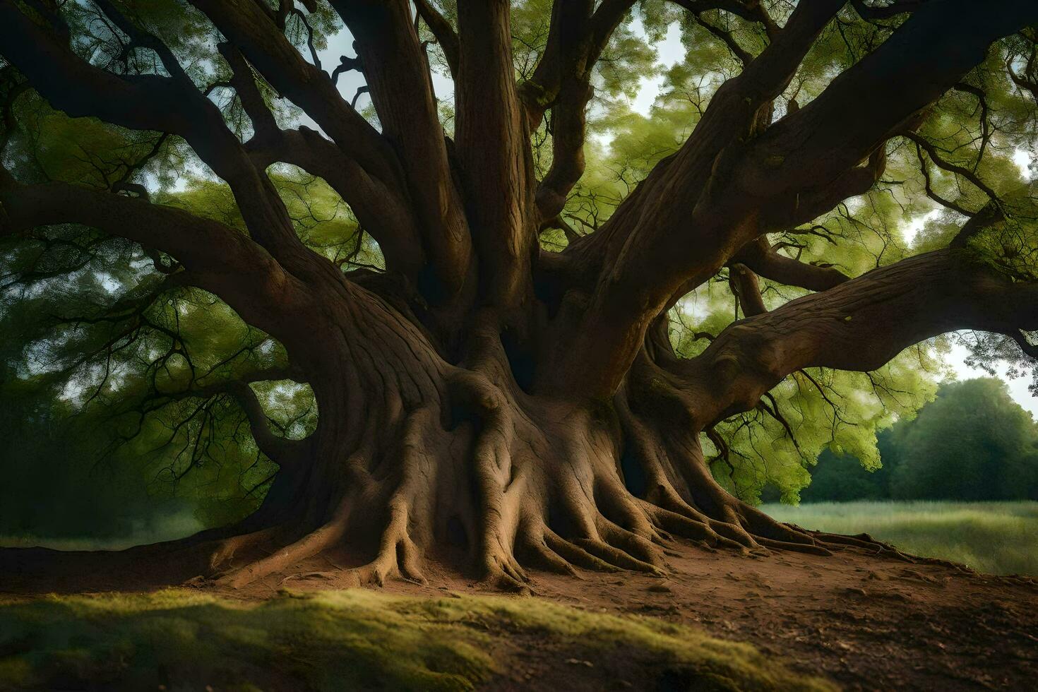
M166 590L0 604L0 619L3 689L468 690L508 675L510 662L489 655L503 637L593 659L602 675L624 651L639 673L671 671L694 689L834 689L747 644L535 599L353 589L248 605Z

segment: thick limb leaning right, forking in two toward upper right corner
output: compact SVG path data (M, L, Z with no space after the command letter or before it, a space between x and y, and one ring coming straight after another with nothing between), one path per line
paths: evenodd
M561 339L562 366L549 368L547 380L573 390L563 372L579 371L585 382L576 388L611 392L676 290L708 280L762 233L861 194L881 170L877 153L887 138L918 124L921 111L982 62L993 40L1038 21L1034 3L999 0L979 11L967 0L927 2L819 98L755 131L760 109L785 88L842 5L799 3L761 56L718 89L682 149L601 231L573 247L575 264L602 270L573 340ZM579 369L567 354L580 354Z

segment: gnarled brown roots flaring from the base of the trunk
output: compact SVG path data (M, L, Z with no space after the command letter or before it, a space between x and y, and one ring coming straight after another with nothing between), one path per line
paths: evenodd
M663 576L678 538L759 555L828 555L838 543L780 524L728 495L693 436L654 428L629 409L620 408L619 420L575 406L539 403L524 410L509 390L471 370L456 376L449 391L450 424L432 406L401 412L397 424L373 426L345 463L324 465L339 479L315 476L310 492L336 489L324 493L330 511L310 507L308 521L219 543L214 569L264 545L277 547L218 573L216 583L240 587L365 538L372 557L362 565L302 576L351 585L381 585L392 577L424 583L426 556L452 533L460 535L456 548L465 556L458 566L511 591L529 589L528 568ZM378 451L380 441L394 438ZM645 476L637 495L625 485L622 458ZM307 525L316 528L301 528Z

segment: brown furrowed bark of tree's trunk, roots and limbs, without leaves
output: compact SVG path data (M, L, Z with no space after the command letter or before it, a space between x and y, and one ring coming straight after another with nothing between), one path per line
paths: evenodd
M316 433L290 441L267 428L247 383L228 387L280 470L255 515L179 544L225 583L342 546L364 556L347 568L358 583L422 580L435 558L515 589L529 568L662 574L676 537L827 554L832 542L726 494L700 435L804 367L869 370L950 330L1038 329L1038 287L966 248L851 279L766 240L866 192L882 174L883 142L918 124L993 40L1038 21L1030 3L920 3L775 122L772 101L844 3L801 2L782 27L760 3L678 3L758 22L770 43L740 53L744 71L680 150L561 253L541 250L538 233L582 173L593 66L633 2L557 2L542 61L522 84L506 0L460 0L456 25L431 2L417 18L404 0L332 2L356 37L350 60L366 79L376 130L289 43L283 15L192 0L226 39L220 55L254 126L247 142L171 52L158 51L166 75L106 72L70 47L55 6L27 4L38 7L0 0L0 54L70 115L184 138L228 183L248 234L117 190L26 185L0 170L0 236L81 223L168 253L182 285L216 294L279 339L317 396ZM137 43L161 44L102 6ZM454 140L438 120L421 22L455 79ZM257 79L323 132L280 129ZM539 182L530 132L548 114L553 163ZM275 162L324 177L378 240L388 271L344 273L309 251L267 176ZM725 267L745 319L699 357L679 358L666 310ZM817 293L768 311L759 277Z

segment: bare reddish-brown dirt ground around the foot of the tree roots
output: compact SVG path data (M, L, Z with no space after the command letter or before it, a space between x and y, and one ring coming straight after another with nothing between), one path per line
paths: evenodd
M0 551L0 594L147 590L189 578L189 565L175 555L165 561L132 552L104 561L90 555L97 554ZM580 579L532 573L531 587L536 598L658 617L746 641L794 670L846 689L1036 689L1036 580L912 563L862 548L830 557L755 556L685 545L668 559L673 574L665 579L627 572L584 572ZM348 582L339 568L351 562L345 553L324 555L293 574L223 593L251 600L284 588L340 588ZM428 585L394 580L383 588L429 597L492 592L436 565L427 576ZM496 680L494 689L558 689L559 676L589 684L596 677L570 677L566 661L539 656L538 642L515 643L511 654L501 654L515 655L521 665L513 676Z

